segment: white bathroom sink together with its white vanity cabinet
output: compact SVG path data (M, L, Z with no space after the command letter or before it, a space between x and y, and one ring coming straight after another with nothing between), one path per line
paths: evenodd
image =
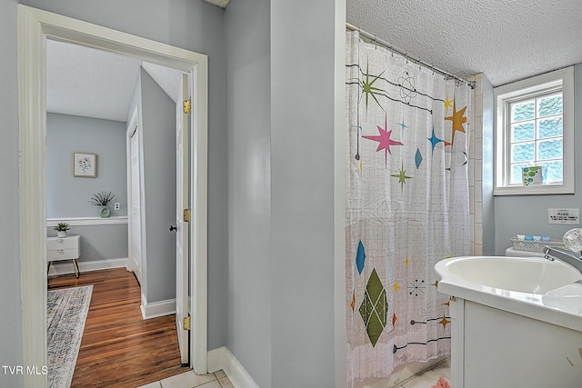
M435 271L437 290L450 295L456 386L581 386L576 268L543 257L466 256L441 260Z

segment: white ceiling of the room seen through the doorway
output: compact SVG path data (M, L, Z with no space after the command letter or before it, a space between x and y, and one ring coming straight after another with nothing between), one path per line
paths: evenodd
M46 42L46 111L125 122L139 67L176 102L180 72L82 45Z

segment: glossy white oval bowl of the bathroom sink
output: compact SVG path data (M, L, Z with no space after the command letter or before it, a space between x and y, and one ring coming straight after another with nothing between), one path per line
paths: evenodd
M435 271L441 282L537 294L582 279L570 265L539 257L454 257L438 262Z

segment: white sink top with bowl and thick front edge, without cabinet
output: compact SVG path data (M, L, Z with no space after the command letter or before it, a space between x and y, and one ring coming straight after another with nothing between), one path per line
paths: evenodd
M463 256L435 265L441 293L582 332L582 274L540 257Z

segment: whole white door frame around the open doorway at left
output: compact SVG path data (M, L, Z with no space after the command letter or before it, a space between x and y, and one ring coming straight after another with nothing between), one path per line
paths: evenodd
M46 39L89 45L174 67L193 90L190 232L194 312L190 365L207 372L207 56L100 25L18 5L19 250L24 364L46 365ZM25 373L25 387L45 387L44 374Z

